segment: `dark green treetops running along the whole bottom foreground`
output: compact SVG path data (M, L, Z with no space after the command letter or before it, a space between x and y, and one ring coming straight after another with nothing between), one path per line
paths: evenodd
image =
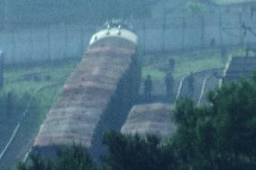
M256 77L214 90L209 102L208 106L197 107L190 100L179 101L175 112L178 131L165 143L153 136L107 133L107 153L100 169L256 169ZM81 150L76 148L75 152ZM60 157L57 166L37 170L55 170L60 165L75 165L67 170L96 169L87 154L81 159L74 157L75 152L66 152L62 156L66 159ZM78 167L78 163L87 166ZM36 169L20 165L18 170Z

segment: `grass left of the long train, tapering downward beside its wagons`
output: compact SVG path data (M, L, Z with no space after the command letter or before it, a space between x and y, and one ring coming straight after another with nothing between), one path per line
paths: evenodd
M34 67L10 68L5 71L5 86L3 92L14 92L16 95L30 94L39 103L41 122L49 112L51 104L58 98L59 91L70 73L78 65L78 60L69 60L59 65L42 65ZM42 73L40 81L25 81L24 76ZM50 79L45 79L50 76ZM35 91L40 90L37 94Z

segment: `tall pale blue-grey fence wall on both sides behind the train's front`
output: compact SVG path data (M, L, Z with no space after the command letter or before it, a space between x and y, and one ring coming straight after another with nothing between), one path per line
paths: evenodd
M242 13L224 16L166 16L163 19L130 21L138 34L144 54L173 50L219 48L256 42L255 37L242 33L242 22L256 28ZM99 25L47 25L0 32L0 49L6 64L33 63L61 58L81 58L92 34Z

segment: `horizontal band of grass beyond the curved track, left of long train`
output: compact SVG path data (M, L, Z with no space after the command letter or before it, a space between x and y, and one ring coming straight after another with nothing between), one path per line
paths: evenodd
M40 86L51 85L56 82L64 82L77 64L78 61L69 61L57 66L50 65L7 69L5 71L5 86L3 91L13 91L16 94L32 94L32 92ZM39 73L41 75L40 81L24 80L24 76L34 73ZM50 76L50 80L46 80L43 76Z

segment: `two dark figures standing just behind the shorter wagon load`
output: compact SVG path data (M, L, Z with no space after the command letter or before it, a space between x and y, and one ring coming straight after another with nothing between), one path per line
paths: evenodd
M170 72L167 73L165 76L165 85L166 85L166 99L169 102L171 102L174 98L173 96L174 79ZM151 93L152 93L152 80L151 80L151 76L148 75L146 80L144 81L144 97L146 101L151 100Z

